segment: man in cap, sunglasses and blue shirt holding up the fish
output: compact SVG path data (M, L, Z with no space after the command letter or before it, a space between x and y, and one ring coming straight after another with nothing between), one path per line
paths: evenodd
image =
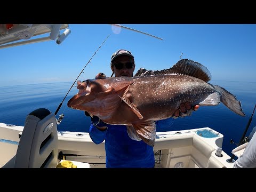
M130 51L118 50L111 56L111 70L115 77L133 77L135 69L134 57ZM111 76L113 76L113 74ZM106 78L99 73L96 79ZM81 81L77 83L77 89L84 89ZM155 121L156 129L161 127L170 130L175 118L191 115L197 110L198 105L191 108L190 102L182 103L179 109L175 110L172 118ZM100 110L100 109L99 109ZM85 111L85 115L90 116ZM126 125L106 124L94 115L90 125L89 134L94 143L99 144L105 140L106 167L154 167L155 158L153 146L143 140L131 139L127 133ZM132 133L130 133L132 134Z

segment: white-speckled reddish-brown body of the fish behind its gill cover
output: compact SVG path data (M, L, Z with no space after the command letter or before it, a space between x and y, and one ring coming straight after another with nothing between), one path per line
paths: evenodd
M216 92L211 84L186 75L155 75L134 79L137 81L129 87L126 96L138 108L143 119L153 121L171 117L181 103L188 101L194 106ZM206 105L218 104L219 100L214 100Z

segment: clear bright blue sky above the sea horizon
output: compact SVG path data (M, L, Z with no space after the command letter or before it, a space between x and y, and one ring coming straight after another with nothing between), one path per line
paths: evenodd
M94 78L99 72L110 76L111 54L126 49L135 57L134 74L141 67L170 68L182 54L182 59L207 67L213 81L256 82L255 24L121 25L163 38L163 41L108 24L69 24L71 34L60 45L46 41L1 49L0 86L73 83L109 34L79 76L81 81Z

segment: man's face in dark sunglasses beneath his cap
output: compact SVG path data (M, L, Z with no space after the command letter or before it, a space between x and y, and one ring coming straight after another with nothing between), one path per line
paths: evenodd
M114 66L111 66L111 69L114 72L115 77L132 77L133 71L135 69L135 64L131 65L131 63L134 63L134 60L127 55L121 55L117 57L114 61L112 61L112 64Z

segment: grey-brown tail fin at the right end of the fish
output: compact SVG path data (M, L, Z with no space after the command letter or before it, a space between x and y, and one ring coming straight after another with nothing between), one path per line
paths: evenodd
M227 106L230 110L234 111L236 114L245 116L243 109L241 107L241 102L236 99L236 96L225 90L223 87L218 85L213 85L215 90L220 94L220 101Z

